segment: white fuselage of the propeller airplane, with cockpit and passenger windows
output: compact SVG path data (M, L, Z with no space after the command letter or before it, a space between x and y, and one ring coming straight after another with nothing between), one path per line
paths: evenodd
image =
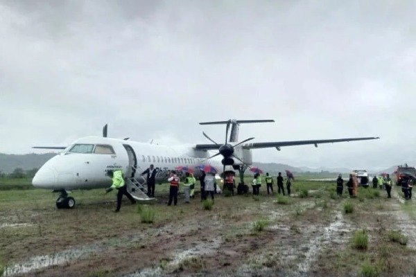
M209 164L223 171L222 157L214 157L202 163L211 153L195 150L192 145L169 147L150 143L110 139L101 136L87 136L78 139L65 150L51 158L37 171L33 186L51 190L76 190L106 188L112 181L107 170L121 169L125 177L137 177L153 164L156 182L166 181L178 166L193 168ZM133 168L137 168L136 170ZM145 176L146 177L146 176Z

